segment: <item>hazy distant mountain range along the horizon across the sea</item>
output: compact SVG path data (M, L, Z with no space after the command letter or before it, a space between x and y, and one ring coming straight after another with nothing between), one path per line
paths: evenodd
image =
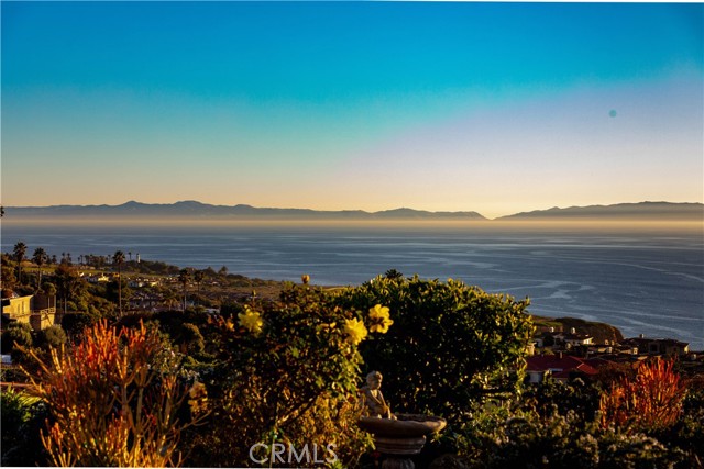
M381 212L362 210L317 211L268 209L252 205L211 205L196 201L169 204L127 202L121 205L7 206L4 220L36 219L189 219L189 220L301 220L301 221L488 221L477 212L428 212L395 209ZM559 220L644 220L704 221L704 204L640 202L615 205L552 208L516 213L497 221Z

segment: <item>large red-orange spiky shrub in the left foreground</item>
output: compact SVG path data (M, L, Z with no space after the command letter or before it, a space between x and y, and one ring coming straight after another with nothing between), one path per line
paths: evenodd
M75 348L52 349L47 364L31 353L40 365L40 372L30 376L32 393L48 403L54 416L42 434L54 465L179 464L180 432L195 422L179 421L189 389L178 383L173 364L158 364L162 346L156 332L143 324L118 332L101 321L86 330ZM198 394L202 400L201 388Z

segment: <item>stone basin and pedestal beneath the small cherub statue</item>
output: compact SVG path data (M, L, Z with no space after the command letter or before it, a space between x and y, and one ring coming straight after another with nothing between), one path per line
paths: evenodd
M397 420L361 417L359 425L374 436L376 450L385 456L382 469L414 469L413 455L428 435L440 432L447 422L432 415L398 414Z

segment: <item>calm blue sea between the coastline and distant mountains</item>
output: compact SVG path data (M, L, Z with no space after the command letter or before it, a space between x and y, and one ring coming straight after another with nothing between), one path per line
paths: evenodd
M3 222L2 250L111 255L274 280L359 284L388 269L531 299L530 312L603 321L704 349L702 230L475 225L40 226Z

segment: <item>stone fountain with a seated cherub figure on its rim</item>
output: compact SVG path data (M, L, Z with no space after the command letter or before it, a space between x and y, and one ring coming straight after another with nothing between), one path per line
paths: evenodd
M382 373L372 371L366 376L359 425L374 436L376 450L385 456L382 469L414 469L410 457L419 454L427 437L444 428L447 422L432 415L394 415L381 387Z

